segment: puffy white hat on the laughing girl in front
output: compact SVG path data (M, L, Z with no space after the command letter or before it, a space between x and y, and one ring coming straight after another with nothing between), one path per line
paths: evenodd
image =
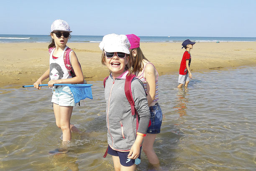
M106 52L123 52L130 54L129 48L131 44L126 35L109 34L105 35L100 42L100 50L105 50Z

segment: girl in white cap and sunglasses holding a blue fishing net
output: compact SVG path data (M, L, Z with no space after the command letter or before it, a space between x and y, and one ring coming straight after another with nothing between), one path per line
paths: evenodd
M71 132L79 132L78 128L70 123L74 96L68 86L54 86L54 84L78 84L84 83L84 75L80 67L77 55L73 50L67 47L70 38L69 24L64 20L55 20L51 24L51 43L49 44L50 67L34 83L34 87L41 89L39 86L43 80L49 78L48 85L52 88L52 99L56 125L61 128L63 147L71 140ZM68 70L65 64L65 58L70 59L72 69ZM74 72L73 72L74 71ZM67 152L67 151L66 151ZM56 150L54 153L63 153Z

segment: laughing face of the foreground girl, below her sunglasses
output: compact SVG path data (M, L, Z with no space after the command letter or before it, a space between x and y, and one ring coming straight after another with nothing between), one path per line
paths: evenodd
M118 58L117 53L113 58L107 58L105 56L105 64L112 73L114 78L117 78L119 75L125 72L125 65L128 64L129 55L126 55L125 58Z

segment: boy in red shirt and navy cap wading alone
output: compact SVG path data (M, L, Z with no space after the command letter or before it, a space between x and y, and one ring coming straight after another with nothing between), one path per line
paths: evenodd
M182 48L185 48L186 51L183 54L182 61L180 63L180 68L179 68L179 80L178 80L178 87L182 87L185 83L185 87L187 87L189 83L189 78L192 78L192 74L190 72L189 66L191 63L191 55L190 55L190 49L193 49L193 45L195 42L190 41L189 39L184 40L182 43Z

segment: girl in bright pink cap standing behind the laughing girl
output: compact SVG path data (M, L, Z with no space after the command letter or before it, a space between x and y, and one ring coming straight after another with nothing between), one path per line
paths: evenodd
M155 66L143 55L140 48L140 38L134 34L126 35L131 43L130 56L132 58L132 72L142 81L145 91L148 93L148 106L151 113L151 126L148 127L142 149L148 157L149 163L158 168L159 159L153 149L156 134L160 133L163 113L157 102L158 96L158 72Z

